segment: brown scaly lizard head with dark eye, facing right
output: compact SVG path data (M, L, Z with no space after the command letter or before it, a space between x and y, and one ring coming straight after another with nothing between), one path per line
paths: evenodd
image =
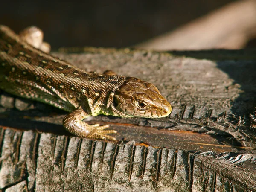
M127 77L114 95L114 107L124 117L168 116L172 106L153 84Z

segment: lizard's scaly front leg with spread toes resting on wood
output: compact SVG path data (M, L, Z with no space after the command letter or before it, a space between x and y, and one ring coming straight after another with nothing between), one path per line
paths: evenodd
M90 115L79 107L64 117L63 125L67 131L79 137L116 141L115 137L107 135L117 133L115 130L105 130L106 128L109 128L109 125L88 125L87 123L82 122L82 120L88 116Z

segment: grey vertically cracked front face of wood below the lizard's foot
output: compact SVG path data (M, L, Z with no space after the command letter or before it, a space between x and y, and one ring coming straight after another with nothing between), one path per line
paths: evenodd
M218 157L211 152L192 154L32 131L1 131L1 189L25 182L22 186L30 191L256 190L252 154ZM250 155L253 158L246 157ZM232 157L238 162L228 160Z

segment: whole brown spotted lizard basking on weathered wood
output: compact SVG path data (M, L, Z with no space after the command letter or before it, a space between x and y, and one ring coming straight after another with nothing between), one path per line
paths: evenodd
M29 32L35 32L35 38ZM107 129L109 125L89 125L83 120L99 114L160 118L171 113L172 106L153 84L81 70L50 55L49 45L44 49L41 43L37 30L17 35L0 25L0 89L69 112L62 124L70 133L114 142L117 139L110 134L117 131Z

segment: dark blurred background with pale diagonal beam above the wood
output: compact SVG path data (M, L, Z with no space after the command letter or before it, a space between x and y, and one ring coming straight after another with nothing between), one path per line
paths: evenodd
M0 10L1 24L38 26L54 49L256 47L255 0L22 0Z

